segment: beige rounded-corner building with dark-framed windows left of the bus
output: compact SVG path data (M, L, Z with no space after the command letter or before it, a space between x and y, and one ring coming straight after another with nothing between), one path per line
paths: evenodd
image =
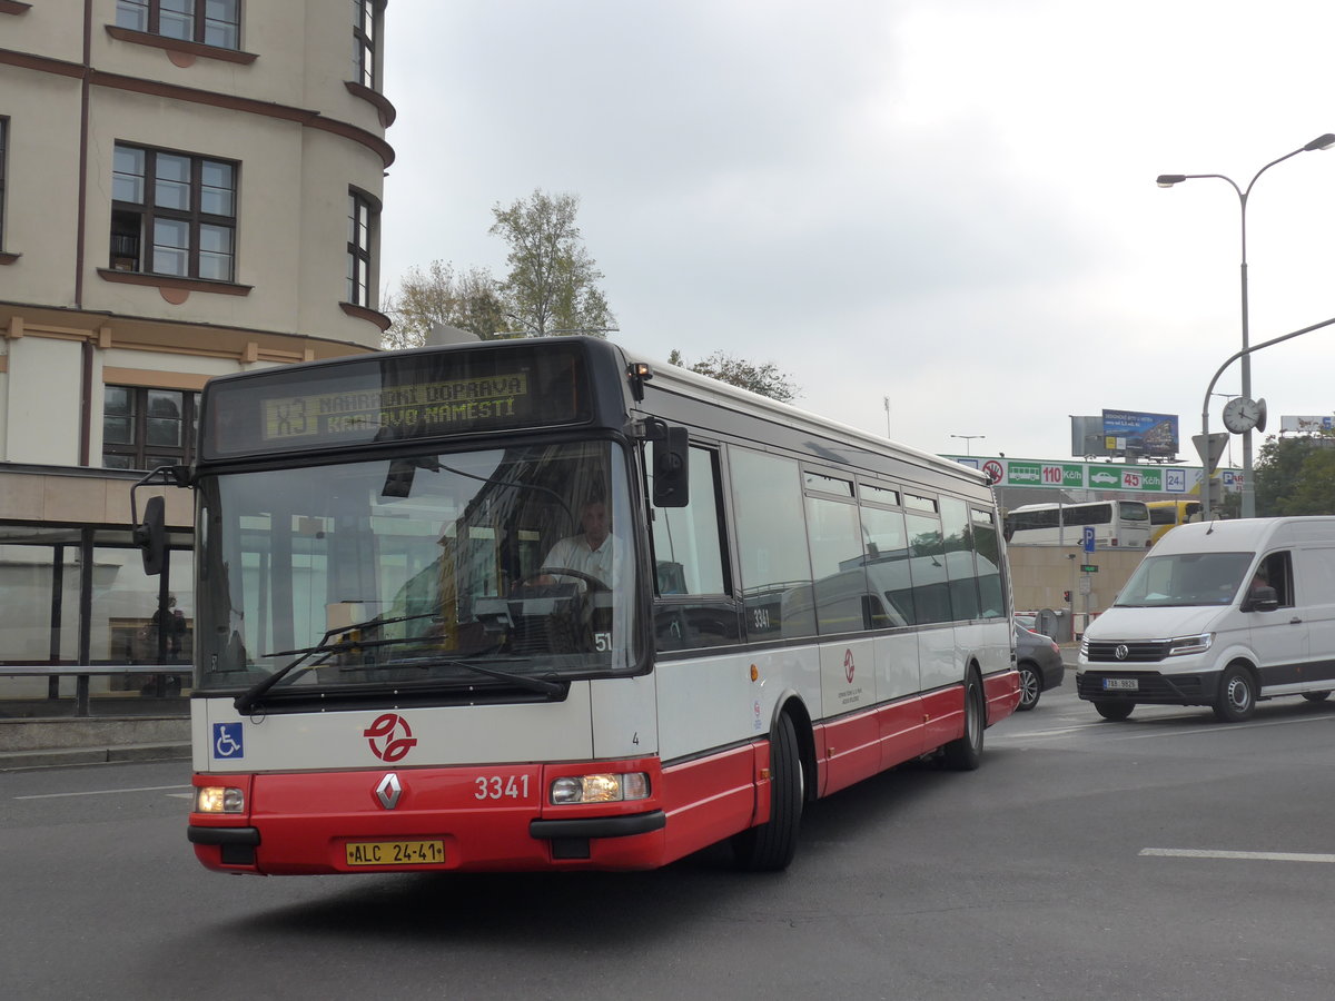
M148 578L129 487L191 460L210 376L378 348L384 5L0 0L4 674L184 670L191 498Z

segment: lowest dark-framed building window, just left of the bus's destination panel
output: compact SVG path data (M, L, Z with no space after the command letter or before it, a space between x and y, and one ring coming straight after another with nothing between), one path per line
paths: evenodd
M151 470L195 456L199 394L107 386L101 406L101 464Z

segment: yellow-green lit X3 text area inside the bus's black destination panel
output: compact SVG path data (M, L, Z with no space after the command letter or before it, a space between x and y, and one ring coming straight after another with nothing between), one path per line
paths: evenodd
M514 419L527 396L529 376L517 372L267 399L260 438L363 436L382 428L407 436L449 434L461 424Z

